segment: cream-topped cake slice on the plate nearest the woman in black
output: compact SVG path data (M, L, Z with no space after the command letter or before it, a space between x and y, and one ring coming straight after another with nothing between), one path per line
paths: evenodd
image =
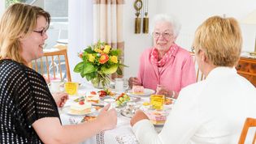
M83 115L91 112L91 108L92 108L92 104L80 101L79 103L72 104L70 106L69 112L71 114Z

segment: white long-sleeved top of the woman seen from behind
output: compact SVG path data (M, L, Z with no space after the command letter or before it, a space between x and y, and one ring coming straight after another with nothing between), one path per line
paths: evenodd
M246 117L256 117L255 87L236 69L217 67L180 91L161 133L148 120L132 130L141 144L237 143Z

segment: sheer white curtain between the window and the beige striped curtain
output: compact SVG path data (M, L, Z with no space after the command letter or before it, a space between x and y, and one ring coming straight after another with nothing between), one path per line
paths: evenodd
M87 45L93 44L93 1L76 0L68 2L68 61L72 73L72 81L86 83L86 78L81 78L75 73L74 67Z

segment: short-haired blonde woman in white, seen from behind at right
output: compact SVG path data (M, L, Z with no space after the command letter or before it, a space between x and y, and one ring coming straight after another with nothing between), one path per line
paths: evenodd
M159 134L143 112L136 112L131 125L138 141L237 143L246 117L256 117L256 89L234 68L241 45L241 30L235 19L214 16L202 23L193 48L206 79L180 91Z

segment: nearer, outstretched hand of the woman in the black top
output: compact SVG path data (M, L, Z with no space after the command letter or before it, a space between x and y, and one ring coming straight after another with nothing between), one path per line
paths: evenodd
M115 108L109 108L111 104L107 104L104 108L102 108L101 112L96 119L100 125L102 125L103 130L114 129L117 124L117 113Z

